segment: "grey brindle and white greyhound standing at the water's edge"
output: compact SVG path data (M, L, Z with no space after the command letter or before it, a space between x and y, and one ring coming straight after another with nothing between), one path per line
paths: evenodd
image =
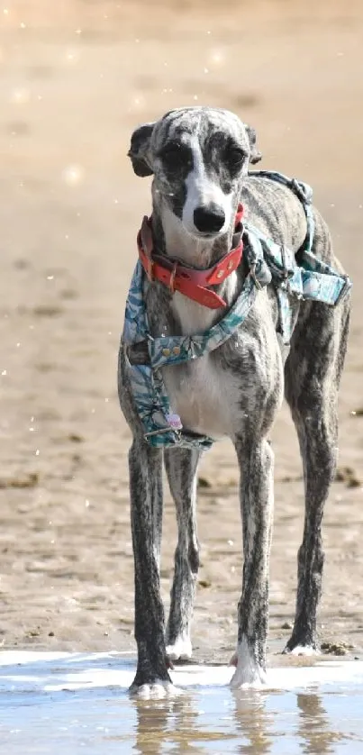
M290 296L293 327L289 343L284 344L278 332L276 289L257 282L248 316L231 337L194 359L159 369L172 410L170 426L183 427L190 443L166 443L163 449L150 442L154 433L146 433L141 422L131 364L147 362L154 339L176 336L180 341L212 332L233 308L253 277L244 255L237 262L229 256L240 248L241 205L246 222L293 255L298 256L304 245L307 222L304 206L289 186L249 173L249 164L261 157L256 133L229 111L209 107L171 111L132 133L129 156L137 176L153 176L152 217L144 219L139 236L141 293L149 330L139 350L132 351L122 338L118 378L120 403L133 435L129 467L138 666L132 692L167 695L173 689L169 676L173 659L192 654L190 625L199 562L196 475L203 452L197 440L202 437L231 438L240 467L244 567L231 685L259 685L266 672L274 504L274 454L268 436L284 393L300 444L305 491L295 624L285 651L319 650L322 513L337 459L337 397L349 329L349 296L337 307ZM312 217L313 255L344 275L333 256L327 225L313 207ZM221 273L218 266L225 259L228 265ZM168 271L168 286L161 273L153 275L158 260L159 272ZM217 270L216 277L209 277L209 287L201 285L204 271L211 269ZM188 271L191 278L195 271L199 277L195 285L183 289ZM137 318L135 322L138 327ZM163 458L178 527L167 626L159 585Z

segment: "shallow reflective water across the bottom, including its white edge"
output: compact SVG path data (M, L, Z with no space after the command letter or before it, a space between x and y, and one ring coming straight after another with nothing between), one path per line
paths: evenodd
M116 653L0 653L0 752L9 755L363 751L363 662L270 669L268 689L228 687L228 667L176 669L182 693L131 700Z

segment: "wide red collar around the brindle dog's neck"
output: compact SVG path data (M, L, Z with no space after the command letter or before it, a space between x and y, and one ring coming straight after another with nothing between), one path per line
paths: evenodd
M231 272L238 268L242 257L241 219L243 206L238 205L235 219L234 246L224 254L212 268L190 268L178 259L154 251L151 231L151 218L146 215L138 233L138 250L142 267L150 281L159 280L174 294L180 291L184 296L210 309L226 306L222 296L218 296L209 287L222 283Z

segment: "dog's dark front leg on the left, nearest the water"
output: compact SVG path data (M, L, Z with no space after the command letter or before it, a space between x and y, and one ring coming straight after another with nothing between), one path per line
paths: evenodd
M159 584L162 451L134 439L129 453L132 545L135 561L135 638L138 666L131 692L164 696L172 689Z

